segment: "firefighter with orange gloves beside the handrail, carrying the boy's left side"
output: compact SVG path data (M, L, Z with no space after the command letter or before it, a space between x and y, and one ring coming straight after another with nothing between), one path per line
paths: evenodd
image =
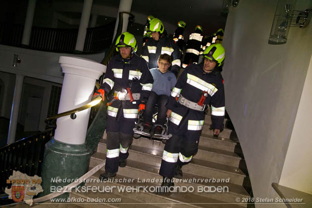
M107 108L107 153L101 179L116 176L118 165L126 166L138 109L144 109L152 89L152 75L145 60L135 53L136 49L136 40L131 33L122 33L117 38L119 54L108 63L103 83L94 94L104 99L104 93L113 90Z

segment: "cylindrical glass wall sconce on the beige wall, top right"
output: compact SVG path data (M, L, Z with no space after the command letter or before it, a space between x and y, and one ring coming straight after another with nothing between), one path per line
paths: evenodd
M287 42L290 27L306 28L312 16L312 9L294 10L296 0L279 0L269 37L269 44L279 45Z

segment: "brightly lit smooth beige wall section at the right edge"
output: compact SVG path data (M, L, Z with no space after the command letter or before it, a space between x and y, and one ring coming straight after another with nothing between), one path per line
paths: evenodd
M279 184L312 194L312 57Z

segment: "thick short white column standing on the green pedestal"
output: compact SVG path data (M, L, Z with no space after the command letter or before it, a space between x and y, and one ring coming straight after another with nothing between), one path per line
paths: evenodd
M91 101L96 80L105 72L106 66L98 62L60 56L59 63L64 80L59 101L58 114L82 107ZM54 139L67 144L84 144L86 141L90 109L70 116L58 118Z

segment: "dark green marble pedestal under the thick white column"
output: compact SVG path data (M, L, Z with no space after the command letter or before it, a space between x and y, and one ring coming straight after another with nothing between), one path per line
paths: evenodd
M86 143L72 145L58 142L52 138L44 149L42 163L42 188L40 196L54 192L55 188L63 187L74 179L88 172L91 150ZM73 190L74 191L74 190ZM59 197L67 198L69 193Z

